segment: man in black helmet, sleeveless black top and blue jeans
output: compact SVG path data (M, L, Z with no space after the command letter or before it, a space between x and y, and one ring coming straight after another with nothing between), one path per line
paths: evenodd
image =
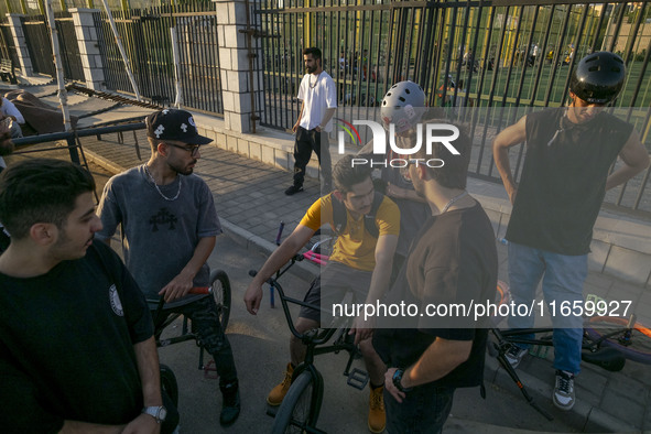
M513 210L507 229L509 280L517 304L531 305L542 280L547 303L583 302L593 226L606 191L649 165L633 127L603 111L623 86L626 67L609 52L582 58L569 83L569 106L522 117L492 144L496 166ZM527 142L519 185L511 173L509 148ZM620 158L623 164L609 174ZM509 326L528 328L533 317L511 316ZM574 406L574 376L579 371L583 319L562 316L554 325L554 404ZM527 348L514 346L507 359L517 367Z

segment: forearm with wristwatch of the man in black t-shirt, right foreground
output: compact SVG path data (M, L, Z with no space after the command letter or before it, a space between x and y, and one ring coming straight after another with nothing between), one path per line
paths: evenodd
M448 340L437 337L419 360L404 370L402 387L409 389L445 377L468 359L471 349L473 340ZM398 402L402 402L404 393L393 386L395 369L390 368L384 375L384 387Z

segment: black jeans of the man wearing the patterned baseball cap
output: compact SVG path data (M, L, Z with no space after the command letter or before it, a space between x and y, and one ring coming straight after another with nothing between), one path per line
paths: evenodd
M202 345L215 359L215 367L219 375L219 386L226 386L237 380L232 349L221 329L215 299L206 296L183 306L164 311L164 313L173 312L182 313L192 321L192 329L199 335ZM161 316L162 318L159 322L165 321L165 315Z

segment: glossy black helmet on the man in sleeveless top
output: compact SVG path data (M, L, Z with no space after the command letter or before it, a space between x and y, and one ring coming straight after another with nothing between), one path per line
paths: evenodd
M608 104L623 86L626 66L621 57L610 52L588 54L572 73L569 90L590 104Z

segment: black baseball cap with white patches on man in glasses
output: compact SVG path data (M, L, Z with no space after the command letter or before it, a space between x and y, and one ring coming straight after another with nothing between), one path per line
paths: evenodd
M191 144L208 144L213 139L199 135L192 113L186 110L164 109L144 120L147 137L158 140L177 140Z

